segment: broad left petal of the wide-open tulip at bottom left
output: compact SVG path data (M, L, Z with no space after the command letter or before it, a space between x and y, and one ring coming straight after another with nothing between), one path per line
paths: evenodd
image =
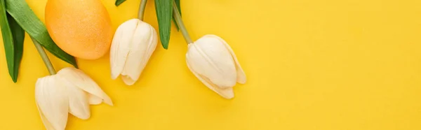
M66 87L55 75L39 78L35 85L36 106L47 129L65 129L69 112Z

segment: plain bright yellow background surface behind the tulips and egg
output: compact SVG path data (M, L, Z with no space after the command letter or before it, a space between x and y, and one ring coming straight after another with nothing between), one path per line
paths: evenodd
M46 0L27 0L44 17ZM137 16L139 0L116 8L102 0L116 29ZM232 46L248 82L222 99L185 63L187 45L173 29L137 84L111 80L109 57L78 60L115 106L93 106L67 129L421 129L421 1L182 0L192 38L217 34ZM145 21L158 27L154 2ZM44 18L43 18L44 19ZM2 46L2 45L1 45ZM69 66L52 58L55 68ZM18 83L0 50L0 129L44 129L34 101L48 75L29 38Z

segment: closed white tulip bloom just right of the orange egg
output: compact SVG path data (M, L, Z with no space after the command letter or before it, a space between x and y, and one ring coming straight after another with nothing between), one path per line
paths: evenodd
M110 50L111 76L133 85L158 43L154 27L139 19L124 22L116 30Z

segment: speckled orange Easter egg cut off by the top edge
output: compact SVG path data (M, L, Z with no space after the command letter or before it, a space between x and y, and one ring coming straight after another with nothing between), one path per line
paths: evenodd
M62 50L81 59L98 59L110 48L114 31L100 0L48 0L46 27Z

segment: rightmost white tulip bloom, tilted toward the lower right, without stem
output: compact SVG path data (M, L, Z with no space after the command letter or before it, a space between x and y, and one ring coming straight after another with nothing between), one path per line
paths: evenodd
M246 83L246 74L234 51L220 37L206 35L189 44L187 66L204 85L226 99L232 99L236 82Z

